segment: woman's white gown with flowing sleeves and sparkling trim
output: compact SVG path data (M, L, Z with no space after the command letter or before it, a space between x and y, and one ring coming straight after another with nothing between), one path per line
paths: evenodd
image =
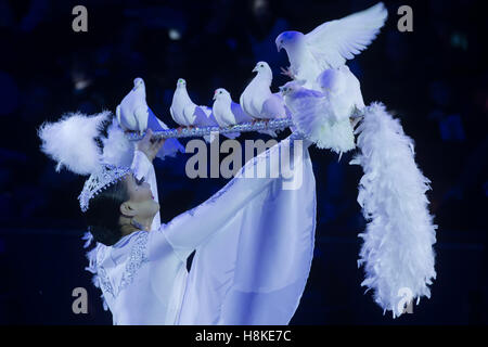
M313 256L310 143L294 155L287 179L245 175L266 167L267 158L275 166L273 158L294 138L251 159L214 196L170 222L160 224L157 214L150 232L97 245L90 269L114 324L288 324ZM157 200L154 167L142 152L136 151L132 169ZM301 184L284 189L294 179Z

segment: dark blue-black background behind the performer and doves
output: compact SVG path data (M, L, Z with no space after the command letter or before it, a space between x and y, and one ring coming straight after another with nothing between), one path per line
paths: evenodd
M265 5L262 5L262 3ZM176 81L211 105L227 88L234 101L265 60L273 88L286 81L275 36L372 5L373 1L4 1L0 0L0 323L110 324L100 292L84 271L84 224L77 195L84 179L54 171L39 151L36 129L68 111L114 111L142 77L147 103L169 126ZM88 9L88 33L72 30L72 9ZM397 9L413 9L413 33L397 29ZM487 323L487 21L475 1L386 1L378 38L348 65L364 101L383 101L416 144L432 179L431 211L439 226L437 280L414 314L383 316L360 287L356 203L359 167L311 150L317 177L316 256L293 324ZM169 29L181 34L171 40ZM77 88L77 81L87 87ZM283 134L285 136L285 133ZM282 136L282 137L283 137ZM255 138L245 134L243 139ZM265 136L260 136L266 139ZM226 180L190 180L188 155L156 159L162 219L205 201ZM279 265L277 265L279 271ZM72 291L89 291L89 313L72 311Z

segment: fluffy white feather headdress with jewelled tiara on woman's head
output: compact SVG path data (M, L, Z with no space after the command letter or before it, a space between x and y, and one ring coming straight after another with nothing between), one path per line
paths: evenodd
M108 137L102 141L102 131L108 124ZM130 162L124 162L132 155L133 145L120 132L106 111L92 116L67 114L56 123L42 124L38 130L41 151L57 162L56 171L65 166L75 174L90 175L78 196L84 213L93 196L130 172ZM97 140L104 146L99 146Z

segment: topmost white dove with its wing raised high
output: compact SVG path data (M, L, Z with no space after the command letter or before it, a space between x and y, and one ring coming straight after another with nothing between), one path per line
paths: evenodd
M370 44L388 16L383 2L325 22L308 34L284 31L275 39L278 51L285 49L288 75L306 88L318 89L316 79L328 68L341 67Z

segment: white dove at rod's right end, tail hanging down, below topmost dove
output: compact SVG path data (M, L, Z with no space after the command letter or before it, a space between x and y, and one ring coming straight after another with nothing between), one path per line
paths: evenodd
M339 153L339 159L343 152L356 147L349 117L337 119L330 98L320 91L301 87L298 81L290 81L280 89L292 112L294 125L318 147Z

